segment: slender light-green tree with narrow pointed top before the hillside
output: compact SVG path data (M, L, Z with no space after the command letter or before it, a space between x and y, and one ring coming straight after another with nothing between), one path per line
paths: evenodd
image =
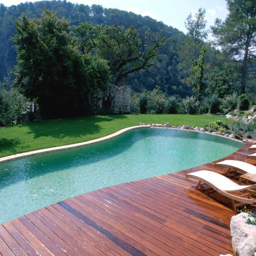
M205 59L205 53L207 49L209 49L209 46L202 47L199 60L195 60L194 63L192 64L190 69L190 74L187 79L187 82L189 83L190 86L192 86L192 89L196 94L196 98L197 98L197 101L199 102L199 106L200 106L202 93L205 87L204 59Z

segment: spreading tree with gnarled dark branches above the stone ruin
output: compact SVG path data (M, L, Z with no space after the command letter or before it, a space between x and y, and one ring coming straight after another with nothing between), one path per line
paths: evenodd
M112 75L112 83L119 85L128 75L154 66L159 51L168 44L160 33L140 33L131 26L102 26L85 22L74 27L77 48L83 54L94 51L106 59Z

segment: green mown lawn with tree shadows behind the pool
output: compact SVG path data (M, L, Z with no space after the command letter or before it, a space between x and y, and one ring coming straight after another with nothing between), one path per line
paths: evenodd
M0 157L93 140L143 123L203 127L224 116L210 115L97 115L24 123L0 128Z

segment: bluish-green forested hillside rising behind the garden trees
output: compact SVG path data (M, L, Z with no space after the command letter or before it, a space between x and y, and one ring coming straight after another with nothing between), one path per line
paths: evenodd
M162 31L163 37L171 39L172 44L169 49L160 52L159 58L155 60L156 66L148 68L148 71L142 70L131 74L124 83L130 85L136 92L141 92L143 89L152 90L158 85L169 95L177 94L184 98L192 94L191 88L184 82L192 60L186 63L186 56L182 56L184 51L180 47L184 45L185 35L183 32L150 17L142 17L135 13L103 8L99 5L89 7L66 1L27 2L8 8L3 4L0 5L0 81L4 76L10 76L10 71L16 64L17 54L12 40L13 34L16 33L15 19L20 20L24 12L29 19L39 17L44 12L44 7L49 10L57 10L57 16L59 18L66 17L71 25L87 21L93 25L123 25L126 28L132 25L142 32L148 29L152 32ZM220 65L217 61L218 58L219 52L214 48L207 51L206 72Z

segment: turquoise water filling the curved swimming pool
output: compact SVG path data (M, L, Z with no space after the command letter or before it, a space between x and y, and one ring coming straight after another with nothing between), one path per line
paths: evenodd
M100 143L0 163L0 223L110 185L212 162L243 146L193 131L141 128Z

